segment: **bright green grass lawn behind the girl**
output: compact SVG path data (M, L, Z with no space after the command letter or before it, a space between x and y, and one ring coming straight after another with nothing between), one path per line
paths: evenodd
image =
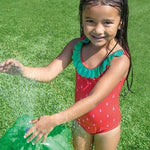
M0 62L14 58L28 66L48 64L71 39L79 37L78 4L77 0L1 0ZM118 150L150 149L149 7L149 0L129 0L135 93L120 98ZM53 114L73 104L74 72L71 64L50 83L0 74L0 136L24 114Z

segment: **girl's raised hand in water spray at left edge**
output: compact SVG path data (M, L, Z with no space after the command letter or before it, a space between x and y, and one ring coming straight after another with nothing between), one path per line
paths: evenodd
M0 64L0 73L22 75L24 66L17 60L8 59Z

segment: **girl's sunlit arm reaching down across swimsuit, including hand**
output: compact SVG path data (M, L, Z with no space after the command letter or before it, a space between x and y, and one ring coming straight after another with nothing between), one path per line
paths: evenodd
M37 131L32 134L28 141L32 140L38 132L42 134L37 137L34 143L37 142L42 136L44 137L44 141L48 133L56 125L74 120L95 108L100 101L102 101L114 89L121 79L127 76L129 65L130 61L125 55L114 58L111 61L110 68L97 82L88 97L76 102L74 105L62 112L51 116L42 116L33 120L31 123L35 123L35 125L26 133L25 137L29 136L34 131Z

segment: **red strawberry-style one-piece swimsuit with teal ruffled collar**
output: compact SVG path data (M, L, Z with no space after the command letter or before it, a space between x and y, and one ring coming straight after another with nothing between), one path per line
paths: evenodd
M118 50L114 54L109 55L109 57L107 57L97 68L89 69L84 65L81 56L81 47L84 43L88 42L89 40L85 38L77 43L72 56L76 68L75 102L89 95L97 81L109 68L110 61L114 57L123 55L123 50ZM78 124L80 124L88 133L97 134L107 132L120 124L121 113L119 106L119 93L124 81L125 78L122 79L111 93L94 109L76 119Z

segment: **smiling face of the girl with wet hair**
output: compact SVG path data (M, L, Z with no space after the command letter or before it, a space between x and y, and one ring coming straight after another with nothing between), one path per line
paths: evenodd
M111 6L86 6L82 21L84 35L98 47L113 41L120 28L119 12Z

